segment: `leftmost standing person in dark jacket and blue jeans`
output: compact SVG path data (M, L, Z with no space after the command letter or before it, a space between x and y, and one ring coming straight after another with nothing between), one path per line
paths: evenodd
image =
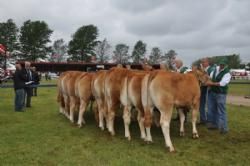
M25 98L25 75L22 70L22 66L20 63L16 63L16 71L13 75L13 82L14 82L14 90L15 90L15 111L23 111L24 107L24 98Z

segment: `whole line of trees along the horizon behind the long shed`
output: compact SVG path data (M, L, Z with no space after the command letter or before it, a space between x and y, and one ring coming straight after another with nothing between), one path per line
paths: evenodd
M131 53L129 46L118 43L114 50L105 38L98 40L99 29L95 25L83 25L71 36L66 43L63 39L57 39L53 43L50 37L53 30L45 21L27 20L18 28L12 19L0 22L0 44L6 47L6 52L16 60L38 61L47 59L52 62L99 62L106 63L112 60L115 63L149 63L158 64L165 62L171 67L171 61L177 53L169 50L163 53L159 47L153 47L149 51L146 60L147 44L142 40L135 43ZM240 66L239 55L229 55L230 66ZM228 57L228 55L227 55ZM0 60L3 56L0 56ZM213 57L216 62L221 57ZM199 60L194 64L199 63Z

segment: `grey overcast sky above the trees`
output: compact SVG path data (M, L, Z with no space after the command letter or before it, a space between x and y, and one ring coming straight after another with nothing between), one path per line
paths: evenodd
M52 40L71 39L81 26L94 24L99 40L133 49L138 40L165 53L174 49L190 65L198 58L240 54L250 61L250 0L5 0L0 22L20 27L43 20Z

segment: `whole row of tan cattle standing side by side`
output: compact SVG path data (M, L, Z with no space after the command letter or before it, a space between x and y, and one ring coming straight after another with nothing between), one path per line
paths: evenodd
M209 77L201 70L180 74L166 70L132 70L114 67L110 70L93 72L66 71L58 79L58 102L60 112L81 127L84 112L88 104L95 100L95 117L99 127L114 131L114 118L117 110L123 106L125 137L130 140L129 125L131 109L137 110L137 120L141 138L152 141L150 127L154 119L154 110L160 112L160 125L170 152L175 149L170 139L170 121L173 109L180 114L180 135L184 135L183 108L192 111L193 138L198 138L196 121L200 102L200 83Z

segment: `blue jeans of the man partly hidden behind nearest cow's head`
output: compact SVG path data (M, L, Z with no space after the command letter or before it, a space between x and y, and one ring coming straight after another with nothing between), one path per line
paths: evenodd
M207 122L206 101L207 101L207 86L202 86L201 97L200 97L200 122Z

